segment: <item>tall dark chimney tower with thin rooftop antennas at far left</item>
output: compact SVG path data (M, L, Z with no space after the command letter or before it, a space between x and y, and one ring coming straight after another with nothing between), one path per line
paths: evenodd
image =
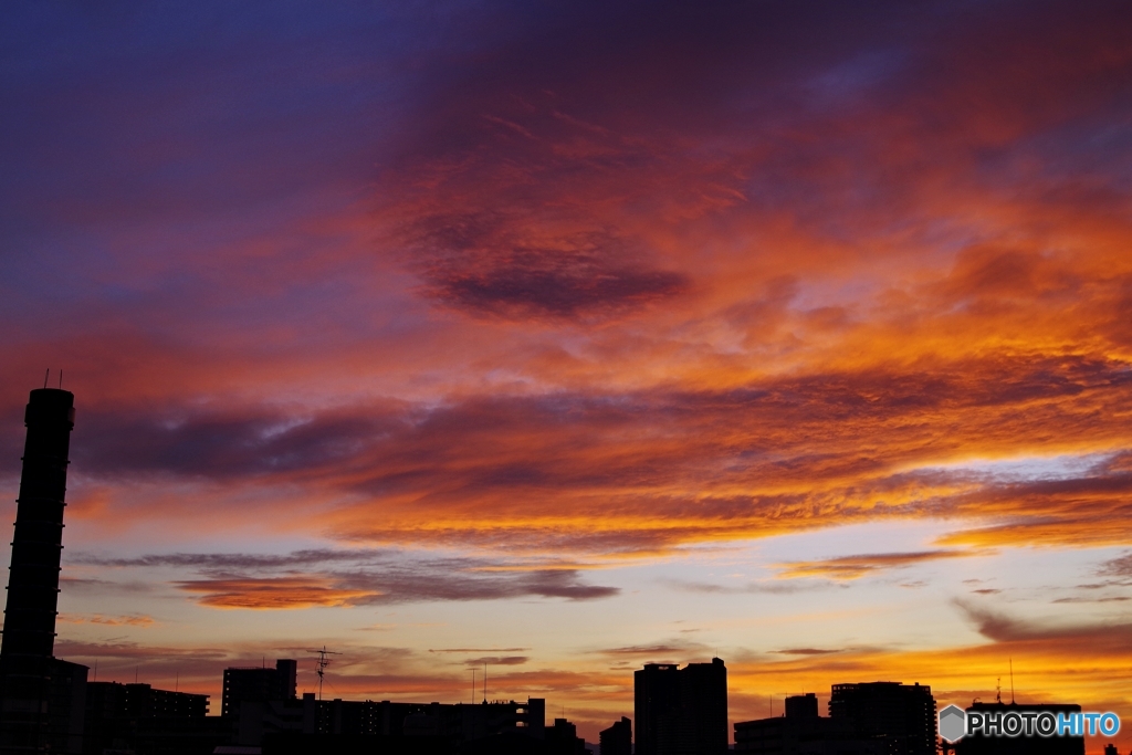
M0 753L48 749L67 458L75 394L32 392L0 643Z

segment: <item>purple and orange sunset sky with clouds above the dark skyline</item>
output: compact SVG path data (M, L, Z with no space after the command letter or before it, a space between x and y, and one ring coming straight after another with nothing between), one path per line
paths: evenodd
M15 3L0 242L100 680L595 741L1012 663L1132 748L1126 1Z

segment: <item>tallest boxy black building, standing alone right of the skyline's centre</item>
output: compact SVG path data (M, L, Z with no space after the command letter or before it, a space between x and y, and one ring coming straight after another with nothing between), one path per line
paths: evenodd
M637 755L719 755L728 749L727 668L648 663L633 675Z

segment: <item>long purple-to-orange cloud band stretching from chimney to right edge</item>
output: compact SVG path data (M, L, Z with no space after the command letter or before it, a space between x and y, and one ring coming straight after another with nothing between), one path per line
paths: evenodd
M957 544L1115 543L1129 534L1120 522L1132 484L1125 371L1018 354L301 418L266 406L95 415L97 452L76 464L208 480L187 483L196 499L256 489L266 501L286 488L300 517L291 525L374 542L616 555L927 515L954 521ZM1032 469L1011 471L1018 457ZM297 489L335 503L302 518ZM100 505L110 506L100 516L113 512Z

